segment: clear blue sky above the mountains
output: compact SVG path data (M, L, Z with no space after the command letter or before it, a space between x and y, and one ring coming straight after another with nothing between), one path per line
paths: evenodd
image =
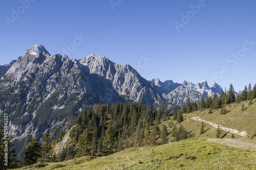
M69 57L105 56L147 80L216 81L236 91L256 83L256 1L28 1L0 2L0 65L36 43L54 55L75 40Z

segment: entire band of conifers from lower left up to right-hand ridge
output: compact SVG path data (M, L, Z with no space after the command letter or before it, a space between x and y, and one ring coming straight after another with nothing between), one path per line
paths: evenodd
M57 141L51 140L48 133L40 143L33 138L25 157L19 164L30 165L38 161L61 162L80 156L105 156L125 148L167 143L169 134L174 137L173 141L179 141L193 135L180 125L183 114L205 109L209 109L211 113L214 109L223 108L224 104L252 101L255 98L256 84L253 89L249 84L248 88L245 86L245 89L238 93L230 84L229 90L222 91L220 95L214 94L206 99L202 97L198 104L188 99L181 108L175 107L173 120L169 120L168 108L163 105L152 108L150 104L142 105L134 102L98 104L92 109L83 110L75 118L69 134L71 140L59 153L58 158L53 154L53 149L65 135L62 129L57 136ZM225 110L221 114L225 114ZM169 132L164 123L166 120L169 120L168 127L172 128ZM200 133L203 131L202 128Z

